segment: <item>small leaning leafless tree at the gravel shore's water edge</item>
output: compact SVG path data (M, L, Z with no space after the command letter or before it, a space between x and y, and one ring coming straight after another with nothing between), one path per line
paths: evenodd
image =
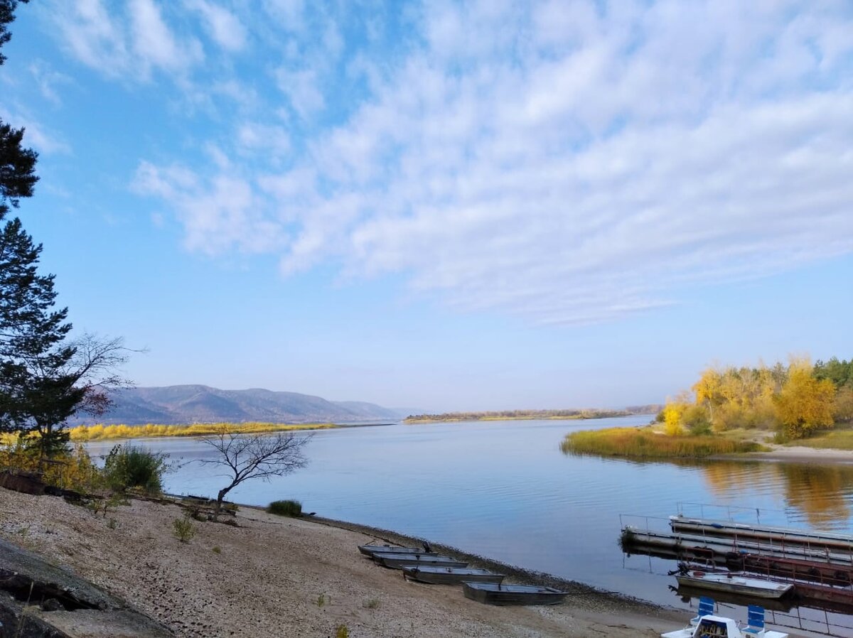
M239 434L223 426L218 434L201 440L216 450L212 459L200 459L209 465L225 468L221 476L230 483L219 490L216 512L222 508L225 495L249 479L269 481L274 476L284 476L308 465L302 449L312 434L296 436L293 432L276 434Z

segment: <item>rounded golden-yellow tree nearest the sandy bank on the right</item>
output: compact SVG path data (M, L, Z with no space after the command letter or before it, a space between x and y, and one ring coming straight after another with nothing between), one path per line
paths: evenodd
M835 386L817 380L807 360L792 360L788 380L775 397L776 418L788 438L804 438L833 425Z

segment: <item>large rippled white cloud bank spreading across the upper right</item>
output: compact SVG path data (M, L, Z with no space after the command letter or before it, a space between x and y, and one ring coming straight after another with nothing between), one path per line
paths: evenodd
M273 4L305 26L301 3ZM137 181L200 250L281 251L286 273L405 272L451 305L540 322L853 251L842 5L430 3L419 27L422 46L371 73L333 129L298 144L235 127L238 168L270 150L284 168L235 183L142 165ZM312 32L333 34L327 58L276 72L304 120L339 107L334 65L380 68L338 61L339 29Z

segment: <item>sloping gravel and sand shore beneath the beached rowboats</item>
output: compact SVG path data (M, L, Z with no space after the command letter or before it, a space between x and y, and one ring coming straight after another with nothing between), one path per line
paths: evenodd
M579 583L566 583L572 594L559 606L485 606L460 588L406 582L358 553L357 545L387 533L241 508L239 526L195 523L185 543L172 533L182 516L176 505L134 500L104 517L54 496L0 489L0 536L130 601L178 636L327 638L345 626L349 638L652 638L686 620L684 612Z

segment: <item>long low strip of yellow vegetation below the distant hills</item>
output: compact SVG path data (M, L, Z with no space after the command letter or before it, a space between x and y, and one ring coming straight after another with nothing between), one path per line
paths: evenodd
M337 427L334 423L300 423L285 425L282 423L194 423L183 426L161 426L148 423L144 426L79 426L68 430L73 441L102 441L109 438L142 437L206 437L218 434L223 428L238 434L258 434L260 432L286 432L289 430L323 430Z

